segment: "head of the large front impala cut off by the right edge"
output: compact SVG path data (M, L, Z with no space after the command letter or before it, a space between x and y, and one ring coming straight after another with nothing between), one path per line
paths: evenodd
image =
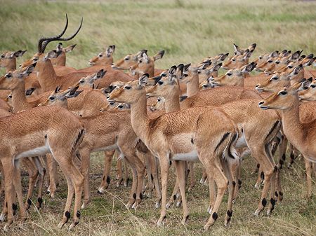
M303 90L305 83L308 83L304 78L300 82L296 82L289 87L284 87L281 90L274 92L270 97L259 102L261 109L291 109L298 102L298 92Z

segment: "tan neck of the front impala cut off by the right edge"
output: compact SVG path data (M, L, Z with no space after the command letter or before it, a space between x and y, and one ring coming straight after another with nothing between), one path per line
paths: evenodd
M291 144L298 147L303 140L303 124L301 123L299 117L298 95L296 95L294 106L292 106L291 109L282 110L281 116L284 134L287 136Z

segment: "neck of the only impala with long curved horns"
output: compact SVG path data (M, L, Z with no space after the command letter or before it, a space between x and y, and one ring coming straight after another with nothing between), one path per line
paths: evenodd
M57 75L51 64L51 60L37 62L37 78L43 92L49 91L52 85L55 85Z

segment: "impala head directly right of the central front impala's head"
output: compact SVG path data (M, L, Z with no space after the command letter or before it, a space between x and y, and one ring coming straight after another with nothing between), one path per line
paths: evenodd
M147 97L167 97L172 95L174 90L179 89L178 78L182 76L183 67L183 64L178 65L178 67L171 67L168 76L162 77L156 85L146 88Z

